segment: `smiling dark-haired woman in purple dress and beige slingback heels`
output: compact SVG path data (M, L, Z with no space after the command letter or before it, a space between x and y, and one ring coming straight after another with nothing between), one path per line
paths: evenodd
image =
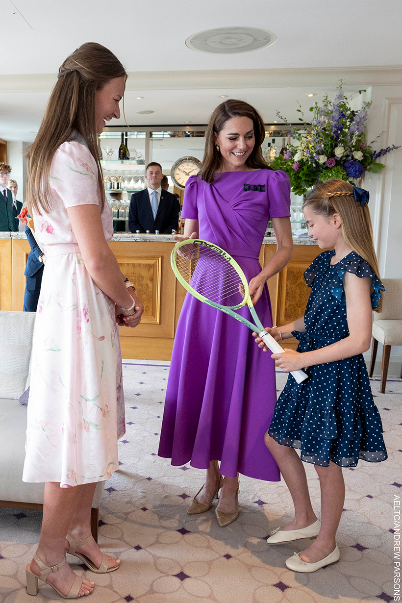
M248 279L260 320L271 325L265 283L287 264L293 243L289 178L263 160L264 137L262 118L248 103L231 99L216 107L206 132L203 166L186 184L184 236L175 240L199 237L228 251ZM269 218L277 251L262 270L259 253ZM248 308L239 312L247 317ZM159 455L171 458L173 465L190 461L207 470L188 512L208 511L222 488L215 511L221 526L239 514L239 473L280 479L264 444L277 399L275 366L268 354L262 358L258 351L243 324L186 295L172 353Z

